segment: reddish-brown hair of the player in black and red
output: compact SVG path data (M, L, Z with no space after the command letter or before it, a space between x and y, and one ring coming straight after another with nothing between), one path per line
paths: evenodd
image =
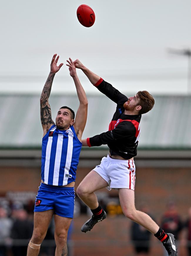
M139 114L147 113L153 108L155 104L155 100L153 99L153 96L147 91L139 91L137 93L137 98L140 100L138 105L141 106L141 110L139 111Z

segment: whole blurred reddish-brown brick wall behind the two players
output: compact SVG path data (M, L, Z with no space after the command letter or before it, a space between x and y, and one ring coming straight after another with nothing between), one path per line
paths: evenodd
M79 168L76 187L91 168ZM0 194L6 191L33 191L37 192L40 184L40 167L0 167ZM150 212L160 222L160 216L165 211L166 203L174 200L177 210L183 219L187 216L187 209L191 206L190 200L191 168L137 168L135 182L135 203L139 207L146 202ZM110 195L118 194L116 190L103 190ZM84 255L134 255L133 247L129 244L129 227L131 221L124 216L108 218L94 227L91 232L83 234L81 225L87 216L74 219L73 241L74 256ZM150 256L162 255L161 244L153 238L154 245ZM179 249L179 256L186 256L185 248Z

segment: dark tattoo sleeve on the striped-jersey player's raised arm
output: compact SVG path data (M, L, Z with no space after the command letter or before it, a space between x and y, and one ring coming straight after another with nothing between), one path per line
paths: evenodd
M41 94L41 123L42 125L49 125L54 123L51 116L51 107L48 103L48 97L50 96L52 82L55 74L50 73Z

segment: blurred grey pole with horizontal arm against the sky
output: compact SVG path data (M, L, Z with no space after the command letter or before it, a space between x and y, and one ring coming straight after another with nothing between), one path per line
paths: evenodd
M168 49L169 53L187 56L188 58L188 71L187 71L187 92L191 93L191 50L190 49Z

